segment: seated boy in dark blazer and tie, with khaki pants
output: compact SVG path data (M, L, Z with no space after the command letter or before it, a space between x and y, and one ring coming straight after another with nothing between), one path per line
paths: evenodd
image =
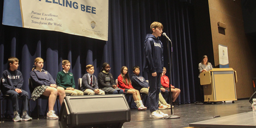
M88 95L105 95L105 92L98 87L98 82L94 73L94 66L89 64L86 66L86 73L82 77L81 90Z

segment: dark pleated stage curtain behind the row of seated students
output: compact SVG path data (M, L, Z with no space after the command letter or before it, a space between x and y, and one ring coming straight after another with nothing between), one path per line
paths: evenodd
M2 20L3 1L0 6ZM7 69L8 58L15 56L19 59L18 70L23 73L23 89L28 92L29 73L36 57L44 59L43 69L54 79L62 70L61 61L70 60L70 72L74 74L76 88L77 79L86 73L87 64L94 65L94 75L97 76L102 64L108 62L115 79L122 66L127 66L131 75L133 66L137 65L141 67L141 75L147 79L147 73L142 72L143 43L146 34L151 33L151 23L158 21L164 25L163 31L173 43L171 75L167 75L171 84L181 89L181 104L192 103L196 100L194 72L198 71L192 68L191 45L194 41L190 8L190 3L184 0L109 0L108 41L1 24L0 74ZM164 66L168 70L166 38L161 36L160 40L164 44ZM30 104L30 111L36 111L36 102L30 101ZM43 114L46 101L42 101L40 106Z

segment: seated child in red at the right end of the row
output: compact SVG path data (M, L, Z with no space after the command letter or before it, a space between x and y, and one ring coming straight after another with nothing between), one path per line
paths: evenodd
M169 78L166 74L166 68L164 67L163 73L161 76L161 84L164 88L166 88L169 91ZM171 85L171 96L172 96L172 102L175 102L175 100L178 98L179 94L181 93L181 90L179 88L175 88Z

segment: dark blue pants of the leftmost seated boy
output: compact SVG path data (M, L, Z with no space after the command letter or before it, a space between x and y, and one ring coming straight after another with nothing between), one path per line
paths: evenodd
M19 111L19 97L22 99L23 103L23 111L28 110L28 92L25 90L21 90L22 92L19 94L15 90L8 90L5 94L9 95L11 98L11 103L13 105L13 111Z

